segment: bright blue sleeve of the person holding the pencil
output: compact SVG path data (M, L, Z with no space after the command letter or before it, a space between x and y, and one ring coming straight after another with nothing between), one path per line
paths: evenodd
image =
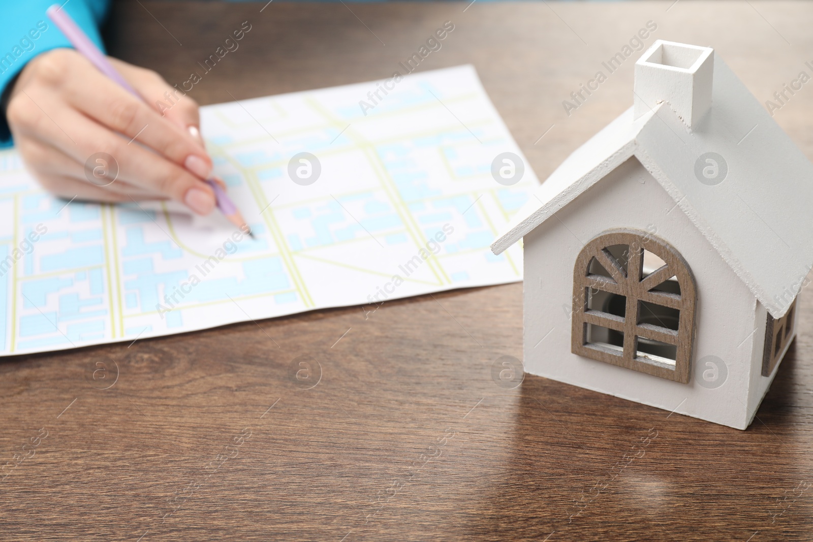
M46 9L53 3L54 0L0 0L0 96L5 95L8 85L37 54L71 46L46 15ZM98 28L109 5L110 0L71 0L63 10L104 50ZM11 145L6 111L0 111L0 149Z

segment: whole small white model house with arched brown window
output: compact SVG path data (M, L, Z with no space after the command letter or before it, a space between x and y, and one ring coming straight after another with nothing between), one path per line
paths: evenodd
M525 371L745 429L795 334L813 165L711 48L656 41L633 97L492 245L524 237Z

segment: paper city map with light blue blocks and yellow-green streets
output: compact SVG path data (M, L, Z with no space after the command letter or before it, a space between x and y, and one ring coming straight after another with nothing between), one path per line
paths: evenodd
M538 181L473 67L201 115L254 240L217 211L67 202L0 152L0 354L522 279L489 245Z

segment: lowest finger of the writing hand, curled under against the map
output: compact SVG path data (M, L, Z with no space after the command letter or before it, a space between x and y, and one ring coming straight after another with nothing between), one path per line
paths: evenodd
M17 150L24 158L26 165L31 170L33 176L40 178L43 176L49 177L68 177L72 180L78 180L93 184L94 186L102 189L111 190L116 193L124 194L125 196L133 196L136 199L157 199L163 196L155 193L152 190L143 189L140 186L130 184L124 180L115 178L118 175L118 167L115 167L115 176L99 175L97 163L93 162L88 164L80 164L73 158L64 154L62 150L54 146L48 145L41 141L31 139L30 137L22 137L15 141ZM109 173L111 170L108 164L104 164L106 171ZM50 187L48 187L50 189Z

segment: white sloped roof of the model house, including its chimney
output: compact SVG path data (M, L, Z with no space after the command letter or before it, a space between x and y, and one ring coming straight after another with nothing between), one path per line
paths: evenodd
M656 41L635 65L634 97L537 188L493 253L634 156L783 316L813 266L813 164L710 48Z

